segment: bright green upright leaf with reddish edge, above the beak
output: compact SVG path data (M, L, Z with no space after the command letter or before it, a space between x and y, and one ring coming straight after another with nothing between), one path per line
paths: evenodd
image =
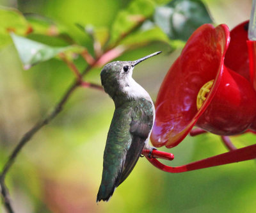
M155 3L152 0L135 0L126 10L120 11L111 28L109 44L118 43L131 31L140 27L141 24L154 13Z

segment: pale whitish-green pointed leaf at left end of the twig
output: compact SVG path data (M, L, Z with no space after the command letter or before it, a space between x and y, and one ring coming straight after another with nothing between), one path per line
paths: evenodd
M78 45L51 47L44 43L15 35L14 33L11 36L25 69L29 69L31 66L36 65L36 63L54 58L61 52L65 52L66 55L71 57L72 54L83 51L83 47Z

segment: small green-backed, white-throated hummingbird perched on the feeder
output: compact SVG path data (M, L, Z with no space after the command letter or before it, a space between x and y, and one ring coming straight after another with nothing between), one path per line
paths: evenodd
M147 91L132 79L132 71L138 63L159 53L135 61L114 61L100 72L102 86L115 103L115 112L104 150L97 202L111 198L116 187L131 173L143 147L152 151L148 139L155 118L154 103Z

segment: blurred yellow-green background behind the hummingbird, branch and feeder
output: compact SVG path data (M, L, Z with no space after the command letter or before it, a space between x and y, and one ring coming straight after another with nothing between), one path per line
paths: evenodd
M249 0L204 0L204 3L214 23L225 23L230 29L250 17ZM116 13L127 4L128 0L0 0L2 6L65 24L81 44L86 40L75 23L111 26ZM54 38L42 40L62 45ZM169 54L166 45L155 42L118 58L134 60L155 51L163 54L138 65L133 75L153 100L181 49ZM83 59L77 59L76 64L80 70L85 67ZM86 80L100 84L100 70L93 69ZM1 168L22 135L51 111L73 79L67 65L58 59L24 70L14 45L1 47ZM112 100L102 91L79 88L74 92L57 118L24 147L6 177L16 212L255 212L255 161L171 174L140 158L111 200L97 205L104 146L113 111ZM240 147L252 144L255 138L244 134L232 137L232 141ZM160 150L175 155L174 166L227 151L220 137L212 134L188 136L172 150ZM4 212L3 206L0 212Z

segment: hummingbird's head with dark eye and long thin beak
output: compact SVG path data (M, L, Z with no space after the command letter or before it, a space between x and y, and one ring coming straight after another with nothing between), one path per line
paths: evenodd
M100 72L100 79L106 93L108 93L112 99L119 93L127 93L127 88L131 88L135 85L134 83L136 83L134 79L132 79L133 68L141 61L156 56L159 53L161 52L155 52L136 61L114 61L105 65Z

